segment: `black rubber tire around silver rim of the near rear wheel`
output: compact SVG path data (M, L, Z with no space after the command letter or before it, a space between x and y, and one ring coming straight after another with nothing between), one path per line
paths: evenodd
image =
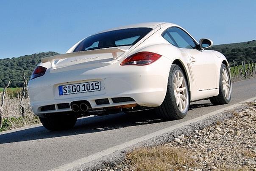
M174 75L175 75L176 71L179 71L180 73L182 73L184 84L185 84L184 87L186 87L186 90L184 90L184 92L181 92L183 94L186 93L186 99L187 99L186 104L184 103L186 105L184 107L184 111L181 111L179 109L179 107L176 103L176 99L175 99L173 83L174 83L174 78L175 78ZM158 114L164 120L182 119L186 116L187 111L189 109L189 99L190 98L189 98L189 91L188 91L188 84L187 84L186 77L185 77L183 71L181 70L181 68L178 65L173 64L170 68L167 92L166 92L164 101L161 104L161 106L159 106L155 109L156 114Z

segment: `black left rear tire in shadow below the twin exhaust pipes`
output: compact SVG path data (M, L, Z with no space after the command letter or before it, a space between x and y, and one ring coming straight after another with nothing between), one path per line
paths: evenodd
M77 117L75 114L69 115L51 115L47 117L39 117L42 125L47 130L66 130L73 128Z

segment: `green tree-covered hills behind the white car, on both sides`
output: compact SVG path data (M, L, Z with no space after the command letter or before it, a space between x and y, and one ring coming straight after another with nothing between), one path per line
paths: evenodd
M253 60L256 62L256 41L241 43L230 43L215 45L209 50L216 50L227 57L228 62L233 65L233 60L240 64L245 60L247 63ZM0 59L0 87L3 87L11 81L10 87L22 87L22 74L25 72L29 80L34 68L43 57L49 57L58 54L57 52L42 52L38 54L25 55L22 57L13 57L11 59Z

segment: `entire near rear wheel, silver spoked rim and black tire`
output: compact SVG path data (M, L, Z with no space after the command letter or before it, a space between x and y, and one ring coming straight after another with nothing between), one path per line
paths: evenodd
M164 120L182 119L189 109L189 90L186 77L178 65L170 68L167 92L156 113Z

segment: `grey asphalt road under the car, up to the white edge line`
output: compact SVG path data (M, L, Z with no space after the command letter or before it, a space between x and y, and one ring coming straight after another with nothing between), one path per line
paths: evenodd
M256 79L233 83L231 103L191 103L184 119L162 122L152 113L112 114L78 119L74 129L51 132L42 125L0 133L0 170L48 170L157 130L256 96Z

